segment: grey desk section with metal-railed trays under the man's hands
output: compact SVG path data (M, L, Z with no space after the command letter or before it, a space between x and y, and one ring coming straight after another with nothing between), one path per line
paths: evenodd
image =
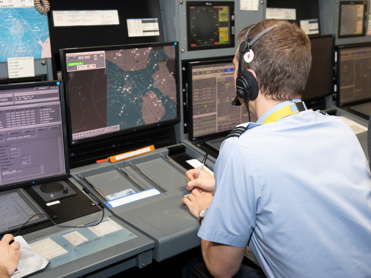
M168 162L161 153L168 155L168 149L160 148L115 163L102 162L70 170L71 175L92 194L94 190L84 183L79 175L86 178L105 196L127 189L142 191L118 171L116 165L133 176L145 189L156 187L130 166L131 162L167 190L164 192L157 188L161 194L110 208L112 214L155 241L152 255L156 261L162 261L200 245L200 238L197 236L200 225L197 218L181 204L184 195L190 193L185 188L187 182L184 171ZM198 160L203 158L202 154L187 146L185 153ZM210 169L214 168L214 163L210 160L206 165ZM101 199L98 194L95 194L95 197Z

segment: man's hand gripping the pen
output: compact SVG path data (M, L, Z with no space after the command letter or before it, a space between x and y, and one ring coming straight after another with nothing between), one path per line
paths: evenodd
M199 189L199 192L205 191L214 195L215 179L214 176L202 169L200 176L196 179L199 167L196 169L188 170L185 173L185 178L187 179L187 190L192 190L193 188ZM197 216L198 217L198 216Z

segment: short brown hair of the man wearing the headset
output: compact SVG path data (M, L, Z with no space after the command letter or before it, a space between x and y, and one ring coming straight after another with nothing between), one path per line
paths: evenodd
M301 97L311 69L311 42L295 23L267 19L250 30L250 41L264 29L277 25L253 44L254 59L242 59L242 69L252 69L257 76L259 92L272 100L292 100ZM253 25L244 28L237 40L242 41ZM239 53L237 53L237 60Z

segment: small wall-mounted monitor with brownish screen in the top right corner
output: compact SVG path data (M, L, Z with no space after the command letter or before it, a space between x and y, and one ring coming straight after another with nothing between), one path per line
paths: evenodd
M339 38L366 34L367 1L340 1Z

